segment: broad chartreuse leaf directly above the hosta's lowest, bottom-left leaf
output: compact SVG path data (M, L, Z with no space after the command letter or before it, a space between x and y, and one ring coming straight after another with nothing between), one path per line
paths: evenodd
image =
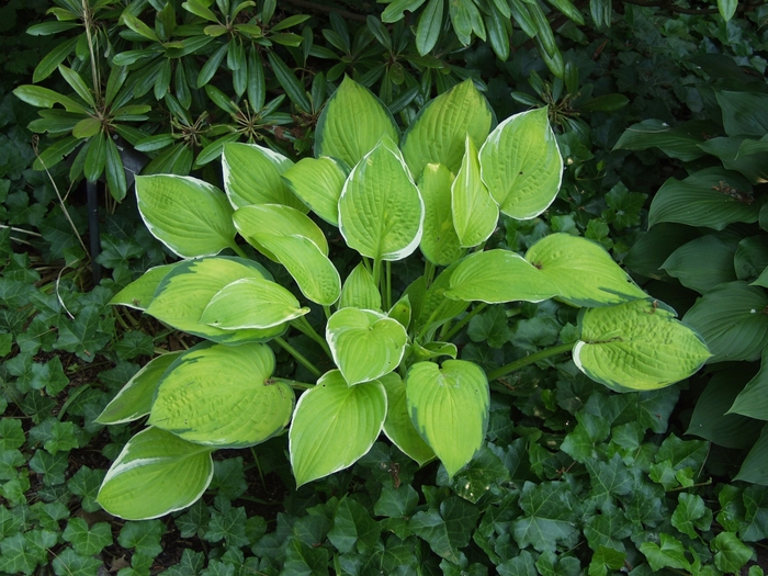
M162 376L149 423L211 447L263 442L289 423L293 411L293 391L270 379L273 370L267 345L199 345Z

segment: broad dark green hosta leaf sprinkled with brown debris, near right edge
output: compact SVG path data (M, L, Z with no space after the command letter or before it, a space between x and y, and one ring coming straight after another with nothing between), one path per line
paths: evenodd
M662 222L725 229L734 222L757 222L760 205L753 202L744 177L722 168L705 168L685 180L670 178L648 208L648 227Z

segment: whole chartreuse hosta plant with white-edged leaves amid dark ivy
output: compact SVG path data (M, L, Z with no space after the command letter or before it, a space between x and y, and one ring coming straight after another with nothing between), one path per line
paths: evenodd
M153 360L100 416L148 415L149 425L114 462L101 505L132 519L188 506L211 479L213 451L263 442L289 422L297 485L350 466L382 431L419 464L437 458L455 475L483 443L488 381L521 364L486 374L459 357L450 340L486 304L557 298L581 308L580 339L523 361L572 351L581 371L618 391L694 372L710 355L701 339L598 245L554 234L524 256L483 250L500 213L544 212L563 170L545 109L495 123L466 81L400 134L386 108L346 79L319 118L315 158L294 163L228 144L224 192L188 177L137 178L144 221L182 260L150 269L113 303L205 341ZM343 240L342 253L324 227ZM261 256L248 258L238 234ZM297 291L275 282L267 259ZM392 262L404 259L423 274L396 293ZM334 261L353 267L341 278ZM313 307L321 314L310 318ZM321 373L284 338L290 330L335 368ZM275 377L278 346L316 382Z

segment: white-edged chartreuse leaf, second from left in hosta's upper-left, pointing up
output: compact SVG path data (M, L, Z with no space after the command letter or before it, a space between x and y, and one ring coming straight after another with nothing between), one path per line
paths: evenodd
M292 166L289 158L263 146L225 144L222 170L229 202L236 208L250 204L283 204L306 213L306 205L282 179L282 173Z

